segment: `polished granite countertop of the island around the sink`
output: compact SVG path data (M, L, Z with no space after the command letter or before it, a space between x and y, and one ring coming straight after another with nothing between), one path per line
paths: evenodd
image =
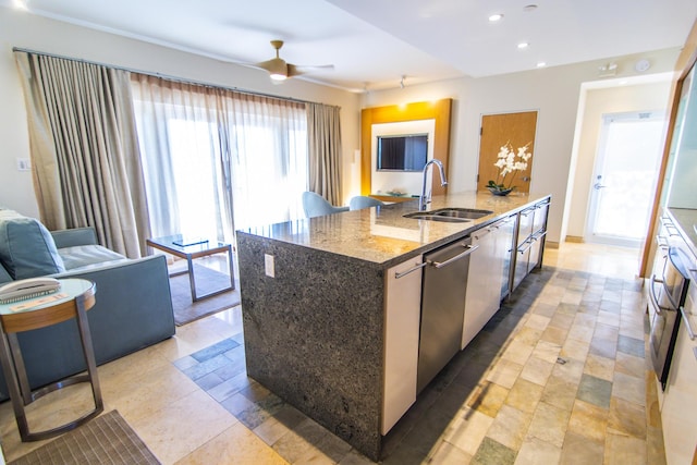
M480 219L461 223L404 218L404 215L418 210L418 199L414 199L378 208L249 228L239 233L339 254L376 264L380 268L389 268L402 260L464 237L488 223L522 210L548 196L549 194L513 193L500 197L488 192L433 196L428 210L460 207L493 211Z

